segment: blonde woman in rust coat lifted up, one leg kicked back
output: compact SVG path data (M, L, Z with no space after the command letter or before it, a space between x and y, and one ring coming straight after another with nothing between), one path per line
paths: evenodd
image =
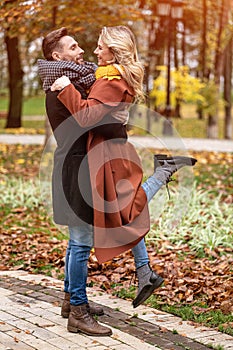
M62 77L51 90L63 89L58 99L81 127L108 123L111 112L142 100L143 67L138 60L135 38L124 26L104 27L95 50L99 68L87 100ZM188 158L161 159L155 173L143 184L142 168L134 147L125 139L104 140L89 132L88 163L94 207L94 247L104 262L132 248L139 279L134 307L145 301L163 282L149 266L143 237L149 231L148 202L184 165Z

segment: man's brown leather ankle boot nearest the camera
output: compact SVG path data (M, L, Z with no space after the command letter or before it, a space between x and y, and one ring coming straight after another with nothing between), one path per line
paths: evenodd
M112 330L108 327L101 326L92 315L87 311L87 304L70 305L70 315L67 329L69 332L82 332L93 336L108 336Z

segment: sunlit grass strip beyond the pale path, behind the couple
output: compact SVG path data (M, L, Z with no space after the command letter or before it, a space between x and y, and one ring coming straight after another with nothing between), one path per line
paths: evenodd
M6 98L0 100L0 111L7 110L8 101ZM139 108L141 116L138 116L136 111L130 117L130 124L132 124L130 133L134 135L147 135L147 116L146 108ZM181 108L182 118L171 118L173 127L175 128L175 134L179 137L188 138L206 138L207 118L200 120L197 118L196 107L194 105L186 104ZM34 116L41 116L41 120L33 119ZM23 118L22 128L20 129L5 129L6 120L0 119L0 134L1 133L15 133L15 134L43 134L45 132L45 101L44 95L39 95L31 98L25 98L23 103ZM32 117L30 119L30 117ZM151 130L149 134L153 136L162 135L162 120L156 121L155 113L151 113ZM223 111L219 116L219 138L223 138L224 130L224 117ZM232 135L233 137L233 135Z

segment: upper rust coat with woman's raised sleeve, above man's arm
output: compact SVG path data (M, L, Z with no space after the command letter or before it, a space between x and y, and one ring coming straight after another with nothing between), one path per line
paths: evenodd
M121 102L131 101L131 94L121 81L97 80L87 100L70 84L58 95L58 99L66 106L81 127L89 127L100 122L105 115L121 109Z

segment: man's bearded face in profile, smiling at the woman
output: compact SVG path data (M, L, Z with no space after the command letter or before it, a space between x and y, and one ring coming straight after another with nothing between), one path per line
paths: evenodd
M84 51L79 47L74 38L69 35L63 36L60 40L61 49L55 50L52 54L55 61L72 61L78 64L83 64Z

